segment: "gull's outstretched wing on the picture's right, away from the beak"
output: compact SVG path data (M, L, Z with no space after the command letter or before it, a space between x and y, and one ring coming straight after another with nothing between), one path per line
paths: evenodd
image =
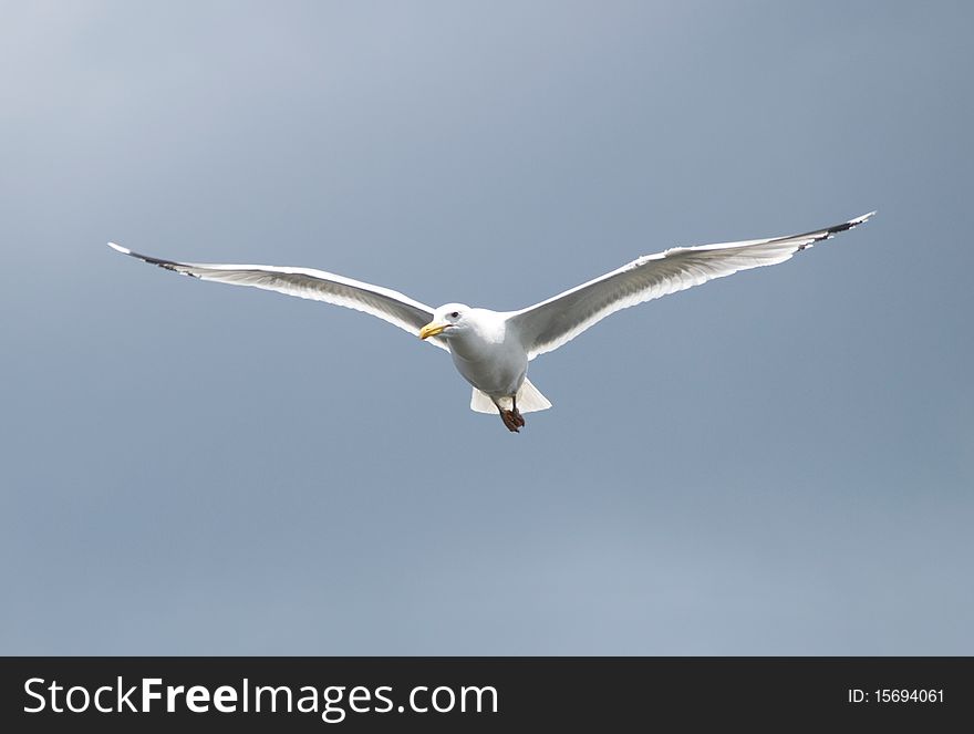
M520 332L528 358L535 359L571 341L615 311L738 270L784 262L836 232L861 225L874 214L870 211L840 225L804 235L675 247L665 252L646 255L601 278L516 311L509 321Z

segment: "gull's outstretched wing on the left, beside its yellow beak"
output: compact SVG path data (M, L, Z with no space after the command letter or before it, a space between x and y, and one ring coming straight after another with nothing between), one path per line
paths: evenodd
M324 301L335 306L356 311L364 311L374 317L388 321L393 325L408 331L414 337L419 335L419 329L433 319L433 309L428 306L414 301L407 296L372 286L343 276L336 276L324 270L312 268L288 268L267 265L214 265L203 262L175 262L160 260L139 255L114 242L108 247L138 258L144 262L157 265L166 270L191 276L200 280L214 280L232 286L251 286L263 290L273 290L298 298L309 298L314 301ZM441 349L447 349L442 339L427 339Z

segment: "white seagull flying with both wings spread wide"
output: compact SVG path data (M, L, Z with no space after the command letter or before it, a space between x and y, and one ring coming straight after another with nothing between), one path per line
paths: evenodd
M449 352L457 371L474 386L470 409L499 413L505 427L517 433L525 426L522 413L551 407L527 379L528 362L536 356L558 349L611 313L739 270L784 262L874 214L804 235L674 247L645 255L520 311L491 311L464 303L433 309L398 291L312 268L176 262L114 242L108 247L200 280L324 301L388 321Z

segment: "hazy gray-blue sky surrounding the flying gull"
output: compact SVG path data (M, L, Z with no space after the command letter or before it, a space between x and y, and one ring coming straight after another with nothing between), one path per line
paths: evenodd
M967 3L0 6L0 651L974 653ZM531 365L517 308L879 209Z

